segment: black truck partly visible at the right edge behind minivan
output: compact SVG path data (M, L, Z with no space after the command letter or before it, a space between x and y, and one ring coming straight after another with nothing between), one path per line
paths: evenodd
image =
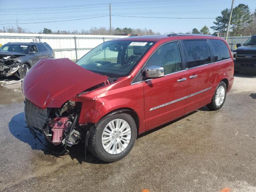
M256 35L249 38L243 46L236 44L237 49L233 51L235 73L240 71L256 72Z

